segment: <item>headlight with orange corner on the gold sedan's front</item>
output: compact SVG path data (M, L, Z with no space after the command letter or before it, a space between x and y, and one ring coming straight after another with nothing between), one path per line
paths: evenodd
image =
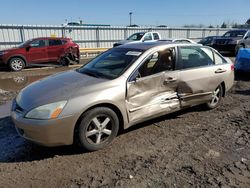
M30 119L55 119L62 112L67 101L60 101L39 106L29 111L25 117Z

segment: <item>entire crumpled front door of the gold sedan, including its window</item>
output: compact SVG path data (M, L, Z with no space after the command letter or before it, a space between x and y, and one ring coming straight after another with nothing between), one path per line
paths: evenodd
M179 109L179 71L174 70L173 49L151 54L127 82L126 107L130 122L138 122Z

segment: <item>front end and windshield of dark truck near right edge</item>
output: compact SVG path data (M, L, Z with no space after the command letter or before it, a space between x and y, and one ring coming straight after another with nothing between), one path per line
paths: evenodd
M211 45L218 51L237 53L237 44L246 34L247 29L235 29L226 32L222 37L213 40Z

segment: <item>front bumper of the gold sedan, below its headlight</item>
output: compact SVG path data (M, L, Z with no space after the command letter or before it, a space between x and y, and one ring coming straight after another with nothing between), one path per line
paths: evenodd
M27 140L43 146L73 144L74 116L53 120L35 120L24 118L22 114L12 111L11 117L18 134Z

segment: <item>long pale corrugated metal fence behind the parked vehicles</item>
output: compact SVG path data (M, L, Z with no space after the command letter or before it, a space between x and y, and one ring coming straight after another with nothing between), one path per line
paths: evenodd
M220 28L0 25L0 49L14 47L36 37L70 37L82 48L109 48L114 42L140 31L159 32L163 39L189 38L198 40L206 36L222 35L228 30Z

